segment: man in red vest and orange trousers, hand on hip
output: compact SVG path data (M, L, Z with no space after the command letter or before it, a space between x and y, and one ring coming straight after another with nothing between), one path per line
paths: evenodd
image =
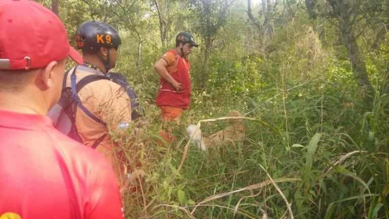
M190 63L188 56L193 47L198 47L193 35L180 32L175 37L175 48L168 50L155 63L154 69L160 76L156 104L162 111L162 128L159 132L167 142L174 141L171 134L173 122L178 124L191 101Z

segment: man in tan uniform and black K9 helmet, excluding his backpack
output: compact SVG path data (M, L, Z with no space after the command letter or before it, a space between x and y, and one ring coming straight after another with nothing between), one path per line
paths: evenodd
M79 82L84 77L97 74L109 76L109 70L116 65L121 39L118 31L101 21L87 21L76 31L77 48L82 50L84 63L70 69L66 85L70 86L72 74ZM121 149L113 141L114 131L125 130L131 122L131 103L125 90L109 80L98 80L86 84L78 92L80 102L86 111L78 106L75 124L82 142L95 148L114 167L122 188L126 178L126 161Z

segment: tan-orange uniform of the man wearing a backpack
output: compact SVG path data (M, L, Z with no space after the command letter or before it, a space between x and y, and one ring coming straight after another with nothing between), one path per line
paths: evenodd
M66 85L70 86L70 69ZM92 68L79 65L76 70L77 82L91 74L102 74ZM131 122L131 102L126 91L117 83L109 80L98 80L85 85L78 93L80 101L88 111L107 124L104 126L77 109L76 127L83 143L89 147L105 133L125 129ZM125 163L120 156L118 144L107 135L97 145L100 152L113 166L119 185L126 179Z

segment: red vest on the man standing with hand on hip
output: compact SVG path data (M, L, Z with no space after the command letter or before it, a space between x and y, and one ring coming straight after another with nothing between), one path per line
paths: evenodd
M159 80L160 89L158 90L156 98L157 106L168 105L188 109L191 97L189 60L178 55L175 50L167 51L161 58L165 59L168 63L167 70L171 74L171 77L173 77L176 82L182 84L182 91L175 91L175 88L169 82L166 82L161 78Z

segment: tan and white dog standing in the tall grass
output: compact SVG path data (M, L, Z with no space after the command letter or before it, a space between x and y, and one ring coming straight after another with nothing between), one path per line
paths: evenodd
M230 117L242 117L238 111L231 111ZM192 137L192 143L202 151L206 151L210 148L218 148L226 144L233 144L235 142L241 142L244 139L244 124L242 119L228 119L231 125L227 126L214 134L204 137L201 129L196 125L189 125L186 130Z

